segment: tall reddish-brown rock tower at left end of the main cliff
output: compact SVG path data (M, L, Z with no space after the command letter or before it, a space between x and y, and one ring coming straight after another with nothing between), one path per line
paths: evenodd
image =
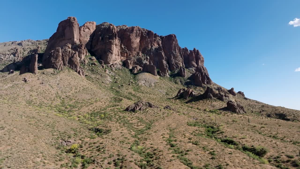
M90 42L90 35L94 32L95 22L85 23L80 27L75 17L68 17L58 24L56 32L49 38L43 56L43 66L61 70L70 67L81 76L84 71L79 67L79 60L88 55L85 45Z

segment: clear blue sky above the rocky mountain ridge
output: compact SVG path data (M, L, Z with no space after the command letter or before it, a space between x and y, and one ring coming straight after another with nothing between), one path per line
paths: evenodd
M300 109L300 1L3 1L0 42L49 38L61 20L141 26L197 48L211 79L246 97ZM5 14L5 15L4 15ZM299 24L299 23L298 23Z

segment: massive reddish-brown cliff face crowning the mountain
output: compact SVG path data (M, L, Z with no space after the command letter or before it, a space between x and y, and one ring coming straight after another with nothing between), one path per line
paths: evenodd
M57 48L61 49L62 64L56 60L60 58ZM49 38L43 65L61 69L61 65L68 66L73 53L78 52L79 60L84 60L88 50L104 64L125 61L128 69L135 68L133 72L139 66L153 75L169 76L169 71L181 68L181 75L185 76L183 68L192 68L197 86L211 84L199 50L181 48L174 34L159 36L139 26L115 26L107 22L99 25L86 22L79 26L75 17L68 17L58 24L56 32Z

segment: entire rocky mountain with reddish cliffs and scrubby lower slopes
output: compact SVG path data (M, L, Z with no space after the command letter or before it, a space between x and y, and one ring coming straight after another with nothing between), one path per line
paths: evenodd
M68 17L0 63L0 168L300 167L300 111L214 83L174 34Z

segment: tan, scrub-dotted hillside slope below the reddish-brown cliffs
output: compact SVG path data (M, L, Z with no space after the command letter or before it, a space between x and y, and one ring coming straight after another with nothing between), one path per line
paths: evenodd
M247 114L237 115L217 99L175 98L187 78L92 63L85 78L69 68L0 74L2 168L297 168L300 125L256 113L265 104L238 95ZM159 108L124 111L139 100Z

